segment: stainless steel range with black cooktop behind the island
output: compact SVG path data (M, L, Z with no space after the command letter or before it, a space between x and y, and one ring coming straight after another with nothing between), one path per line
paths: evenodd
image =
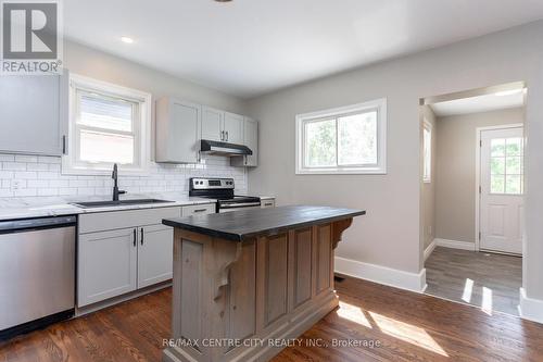
M233 195L233 178L197 178L190 179L189 196L217 199L216 212L230 212L261 208L261 198Z

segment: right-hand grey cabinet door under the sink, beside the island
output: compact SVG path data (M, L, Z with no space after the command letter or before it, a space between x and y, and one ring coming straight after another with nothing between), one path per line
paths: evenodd
M139 227L138 234L138 289L171 279L174 229L164 225L150 225Z

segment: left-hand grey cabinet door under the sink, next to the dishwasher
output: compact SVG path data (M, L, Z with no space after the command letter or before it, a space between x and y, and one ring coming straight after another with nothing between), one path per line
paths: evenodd
M136 290L137 229L79 235L77 305Z

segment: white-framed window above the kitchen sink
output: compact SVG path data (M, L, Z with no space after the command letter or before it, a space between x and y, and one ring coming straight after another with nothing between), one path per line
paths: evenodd
M151 95L71 75L70 108L64 174L147 172Z

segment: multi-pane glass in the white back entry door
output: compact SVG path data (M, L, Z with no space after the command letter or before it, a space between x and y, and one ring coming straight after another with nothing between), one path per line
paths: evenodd
M490 143L490 192L523 192L523 142L520 137L494 138Z

